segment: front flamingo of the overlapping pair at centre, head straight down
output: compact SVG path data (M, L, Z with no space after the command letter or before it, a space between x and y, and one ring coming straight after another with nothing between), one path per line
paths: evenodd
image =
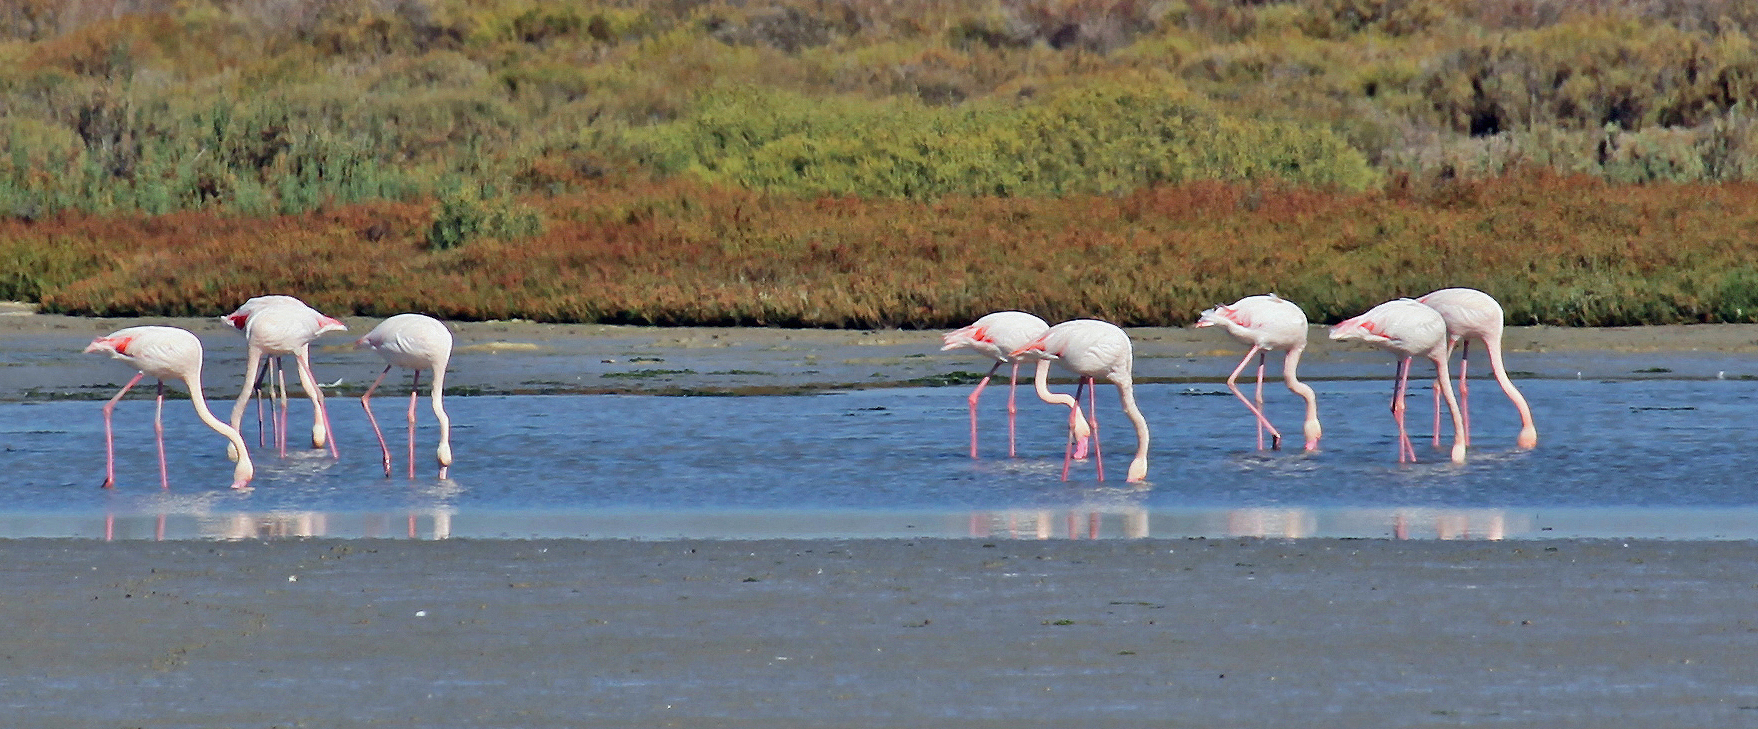
M1025 346L1011 351L1013 357L1030 357L1037 362L1037 397L1044 402L1060 402L1069 406L1069 427L1071 436L1078 434L1076 423L1079 423L1079 388L1074 390L1074 397L1053 395L1050 392L1050 362L1060 362L1064 369L1078 374L1081 378L1081 386L1092 386L1088 393L1088 429L1093 441L1093 460L1099 467L1099 480L1104 481L1104 453L1099 450L1099 416L1095 413L1099 383L1097 378L1106 378L1116 385L1116 393L1123 401L1123 415L1136 423L1136 458L1129 464L1129 481L1143 481L1148 478L1148 420L1141 416L1141 409L1136 408L1136 386L1130 379L1130 369L1134 367L1134 350L1129 344L1129 334L1123 334L1113 323L1099 320L1074 320L1062 321L1050 327L1048 332L1032 339ZM1062 455L1062 480L1069 480L1069 462L1072 458L1071 448L1064 450Z

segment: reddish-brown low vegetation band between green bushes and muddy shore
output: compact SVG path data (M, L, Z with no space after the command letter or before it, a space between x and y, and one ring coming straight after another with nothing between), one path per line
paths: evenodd
M0 223L0 297L74 314L332 313L657 325L951 327L1004 307L1181 325L1278 292L1336 321L1442 286L1512 323L1758 321L1758 184L1531 174L1320 193L781 197L682 179L520 202L543 232L434 248L425 204Z

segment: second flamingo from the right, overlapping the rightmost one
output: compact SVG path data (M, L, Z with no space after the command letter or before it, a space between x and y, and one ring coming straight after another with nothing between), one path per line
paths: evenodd
M1447 321L1440 313L1422 306L1415 299L1398 299L1368 309L1366 314L1345 320L1331 327L1331 339L1359 339L1399 357L1398 386L1392 388L1392 420L1398 422L1398 462L1415 462L1417 451L1410 444L1410 432L1405 430L1405 383L1410 376L1410 360L1417 355L1435 362L1436 383L1452 411L1452 462L1464 462L1464 422L1459 418L1459 402L1452 397L1452 379L1447 376Z

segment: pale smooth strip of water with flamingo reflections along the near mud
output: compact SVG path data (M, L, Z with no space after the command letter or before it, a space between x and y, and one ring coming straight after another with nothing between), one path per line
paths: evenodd
M541 509L5 515L0 539L1758 539L1758 509L1245 508Z

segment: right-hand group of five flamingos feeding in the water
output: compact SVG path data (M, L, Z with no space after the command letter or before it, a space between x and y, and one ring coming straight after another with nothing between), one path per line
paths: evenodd
M1519 448L1538 444L1538 430L1533 427L1531 409L1514 386L1514 381L1508 379L1507 367L1501 364L1501 304L1489 293L1475 288L1443 288L1420 299L1389 300L1361 316L1331 327L1331 339L1361 341L1399 357L1398 385L1392 392L1392 420L1398 423L1399 464L1417 460L1415 448L1410 444L1410 432L1405 430L1405 388L1410 378L1410 362L1415 357L1426 357L1435 362L1435 444L1440 444L1440 401L1445 399L1447 409L1452 413L1452 462L1464 462L1464 450L1470 444L1470 416L1466 415L1466 404L1463 404L1468 392L1464 362L1470 355L1471 339L1484 344L1484 350L1489 353L1489 369L1494 372L1501 390L1514 401L1514 408L1521 413L1521 434L1515 444ZM1282 432L1264 416L1264 360L1269 351L1285 351L1282 376L1287 379L1289 390L1294 390L1296 395L1306 401L1306 422L1301 430L1306 437L1306 450L1317 450L1318 437L1324 436L1318 425L1318 397L1311 386L1296 376L1301 353L1306 350L1306 313L1297 304L1268 293L1208 309L1197 320L1197 327L1222 327L1234 339L1250 344L1245 358L1227 376L1227 390L1239 402L1245 402L1245 408L1257 420L1259 450L1264 448L1264 430L1269 430L1271 448L1282 448ZM1134 353L1129 336L1122 328L1097 320L1074 320L1051 327L1044 320L1023 311L999 311L979 318L965 328L948 332L942 339L946 346L941 351L972 350L995 360L995 365L977 381L976 390L969 397L972 458L977 457L977 399L983 395L983 388L988 386L990 378L1004 364L1013 365L1007 392L1007 455L1014 455L1014 418L1018 415L1014 392L1020 383L1020 364L1035 360L1037 397L1044 402L1069 408L1069 439L1062 453L1062 478L1069 478L1069 466L1072 462L1086 458L1088 441L1092 441L1099 480L1104 481L1104 460L1099 458L1099 418L1093 415L1099 378L1116 385L1118 397L1123 401L1123 415L1136 425L1136 458L1129 464L1129 481L1148 478L1148 422L1141 416L1141 409L1136 408L1136 393L1130 381ZM1461 346L1457 399L1454 397L1452 378L1447 371L1447 360L1452 357L1454 346ZM1238 385L1239 372L1252 364L1252 357L1257 357L1255 399L1245 397ZM1060 364L1079 378L1074 395L1050 392L1048 376L1051 362ZM1081 390L1086 390L1088 397L1085 418L1079 406Z

